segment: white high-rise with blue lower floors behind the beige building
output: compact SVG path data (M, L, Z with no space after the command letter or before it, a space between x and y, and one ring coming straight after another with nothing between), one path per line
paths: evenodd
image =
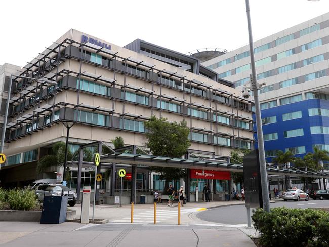
M268 161L277 150L297 156L329 150L329 13L254 44ZM202 63L236 89L249 84L249 46Z

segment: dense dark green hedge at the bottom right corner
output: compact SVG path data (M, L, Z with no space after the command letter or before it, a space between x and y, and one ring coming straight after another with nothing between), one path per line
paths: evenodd
M252 216L262 246L328 246L329 213L312 209L258 209Z

